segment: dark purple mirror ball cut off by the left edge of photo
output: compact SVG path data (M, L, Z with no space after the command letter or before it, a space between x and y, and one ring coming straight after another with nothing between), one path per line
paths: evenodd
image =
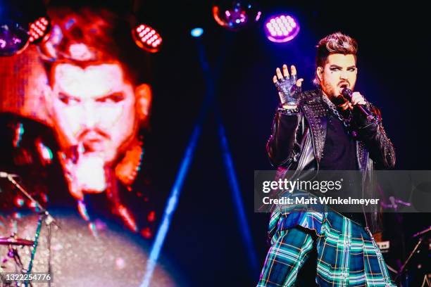
M27 25L17 22L0 23L0 56L12 56L28 46Z

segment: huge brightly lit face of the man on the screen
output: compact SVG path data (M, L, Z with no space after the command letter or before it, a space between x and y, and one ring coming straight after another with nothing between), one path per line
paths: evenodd
M115 160L135 129L135 94L118 64L56 65L52 113L63 148L80 146L105 162Z

